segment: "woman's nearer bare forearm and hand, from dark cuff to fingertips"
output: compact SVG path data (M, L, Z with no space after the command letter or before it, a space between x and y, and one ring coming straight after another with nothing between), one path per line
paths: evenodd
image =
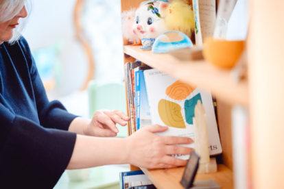
M96 129L97 126L93 130ZM99 127L98 130L104 131L101 129ZM67 168L88 168L106 164L133 164L143 168L185 166L186 160L176 159L170 155L189 154L191 149L180 147L178 144L189 144L192 140L186 137L154 134L166 130L167 127L158 125L147 126L128 138L91 137L79 134Z

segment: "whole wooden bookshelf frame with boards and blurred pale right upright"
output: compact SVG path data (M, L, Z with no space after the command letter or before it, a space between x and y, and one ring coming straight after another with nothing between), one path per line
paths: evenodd
M121 0L121 10L135 8L140 2ZM284 24L272 22L279 21L283 7L284 1L250 1L248 81L239 84L234 83L229 71L217 69L204 60L191 61L188 52L157 55L125 43L125 62L141 60L172 77L210 90L216 97L222 164L218 165L217 173L198 175L197 179L213 179L222 188L233 188L231 110L234 105L243 105L249 110L250 121L248 188L284 188L284 151L279 148L284 142L284 88L281 85L284 81ZM157 188L181 188L179 181L183 168L142 168L142 171Z

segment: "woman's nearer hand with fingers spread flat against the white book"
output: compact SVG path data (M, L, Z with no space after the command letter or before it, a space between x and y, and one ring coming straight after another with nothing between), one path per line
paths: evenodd
M178 146L190 144L191 138L158 136L155 133L166 131L168 127L152 125L143 127L126 138L129 149L128 162L143 168L172 168L185 166L187 160L171 157L172 154L189 154L192 149Z

